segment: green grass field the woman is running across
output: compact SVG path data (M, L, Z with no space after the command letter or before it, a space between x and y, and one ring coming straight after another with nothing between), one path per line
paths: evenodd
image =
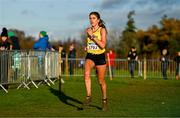
M51 87L41 85L30 90L0 90L0 117L178 117L180 116L180 81L107 79L109 110L101 111L101 93L92 78L92 103L80 109L85 97L82 77L65 79L62 91L58 82Z

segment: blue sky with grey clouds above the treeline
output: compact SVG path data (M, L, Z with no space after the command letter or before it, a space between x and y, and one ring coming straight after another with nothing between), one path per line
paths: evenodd
M180 0L0 0L0 29L34 37L44 30L52 40L78 39L90 25L90 12L99 12L108 30L122 31L132 10L136 27L145 30L164 14L180 19Z

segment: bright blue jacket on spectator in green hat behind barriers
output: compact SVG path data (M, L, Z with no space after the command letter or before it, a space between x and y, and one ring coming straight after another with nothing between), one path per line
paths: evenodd
M47 50L47 49L51 49L51 46L49 44L49 37L46 35L42 38L40 38L33 47L35 50Z

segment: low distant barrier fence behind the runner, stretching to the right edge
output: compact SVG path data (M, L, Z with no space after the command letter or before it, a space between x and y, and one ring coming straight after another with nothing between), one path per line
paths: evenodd
M84 59L62 59L65 64L64 72L62 72L62 76L83 76L84 75ZM118 78L128 78L131 77L128 67L127 59L115 59L115 67L111 69L113 71L113 77ZM70 62L72 65L73 62L73 70L70 69ZM136 61L134 64L134 77L142 77L144 79L151 78L163 78L162 76L162 66L161 61L155 59L141 60ZM106 77L109 76L109 70L106 69ZM73 72L70 72L73 71ZM167 78L174 79L176 71L176 63L173 60L169 60L168 68L167 68ZM91 72L91 76L96 76L95 69Z

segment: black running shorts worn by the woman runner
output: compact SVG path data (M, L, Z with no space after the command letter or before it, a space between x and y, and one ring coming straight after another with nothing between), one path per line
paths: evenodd
M92 60L96 66L106 64L105 54L91 54L87 53L86 59Z

